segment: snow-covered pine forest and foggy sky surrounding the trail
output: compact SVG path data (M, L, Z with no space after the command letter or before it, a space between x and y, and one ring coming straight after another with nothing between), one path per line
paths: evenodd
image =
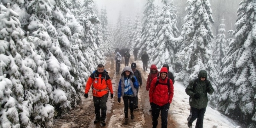
M168 63L184 86L206 70L210 106L256 127L255 0L0 3L2 128L51 126L79 105L88 76L116 47Z

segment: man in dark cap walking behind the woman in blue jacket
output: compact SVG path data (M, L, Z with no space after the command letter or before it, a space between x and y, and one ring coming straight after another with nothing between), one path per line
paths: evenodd
M136 76L136 79L140 85L140 88L142 86L142 78L141 78L141 74L140 74L140 71L136 69L136 63L131 63L131 70L133 71L134 73L134 76ZM137 95L136 95L136 101L135 101L135 106L134 106L134 109L138 108L138 92L139 92L139 88L137 88Z

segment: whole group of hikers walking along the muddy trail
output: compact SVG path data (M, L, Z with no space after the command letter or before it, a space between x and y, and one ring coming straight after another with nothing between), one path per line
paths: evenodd
M116 61L116 74L120 73L120 64L122 61L122 55L119 51L115 51L115 61ZM124 113L125 119L124 124L129 123L128 111L130 110L130 119L134 119L134 109L138 108L138 91L142 87L142 76L139 70L136 69L136 63L131 63L129 67L129 50L124 54L125 67L120 73L120 80L118 83L118 103L121 102L121 97L124 102ZM137 54L136 54L137 56ZM134 57L135 58L135 57ZM137 59L137 57L136 57ZM143 70L147 71L147 62L149 61L149 56L147 53L143 53L141 56L143 61ZM150 67L150 73L147 76L146 90L149 91L150 99L150 112L152 114L152 128L156 128L158 125L158 117L161 112L161 128L167 128L168 124L168 110L170 104L172 103L172 98L174 95L174 76L172 72L169 71L169 65L164 64L161 67L160 72L156 65L152 64ZM106 122L106 102L109 96L109 91L111 94L111 99L113 98L113 89L111 79L108 72L104 70L104 65L99 64L97 70L95 70L89 77L84 97L88 98L88 91L92 86L93 90L93 102L95 107L95 121L94 124L98 122L101 126L105 126ZM195 128L203 128L204 113L206 111L206 106L208 103L208 94L212 94L214 91L211 83L207 80L207 73L205 70L201 70L198 73L198 78L190 81L185 92L190 96L190 115L187 119L188 127L192 128L192 123L197 119ZM128 110L129 109L129 110ZM101 110L101 113L100 113ZM100 116L101 115L101 116Z

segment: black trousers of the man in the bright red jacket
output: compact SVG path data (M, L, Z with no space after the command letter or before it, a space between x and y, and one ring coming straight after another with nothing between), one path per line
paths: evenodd
M159 113L161 111L161 121L162 121L162 127L161 128L167 128L167 118L168 118L168 110L170 108L170 103L166 103L164 106L159 106L155 103L152 104L152 128L156 128L158 124L158 117Z

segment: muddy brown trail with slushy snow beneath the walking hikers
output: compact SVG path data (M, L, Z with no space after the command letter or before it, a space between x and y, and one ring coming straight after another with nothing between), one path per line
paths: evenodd
M130 64L134 62L134 56L130 58ZM139 61L138 61L139 62ZM136 61L135 61L136 63ZM129 64L129 66L130 66ZM120 72L125 67L125 64L121 64ZM72 108L67 114L61 115L58 119L54 119L54 126L52 128L152 128L152 116L149 112L150 103L148 91L146 90L147 72L143 71L141 65L137 63L137 70L140 71L143 84L139 88L138 93L138 108L134 110L134 119L130 119L129 124L125 125L124 122L124 103L121 98L121 102L117 102L117 90L120 74L116 74L116 65L113 57L106 58L105 69L109 72L109 76L113 85L114 97L113 99L108 98L107 102L107 113L106 113L106 126L100 126L100 123L94 124L95 119L93 97L91 90L89 91L89 97L86 99L81 95L82 103L78 107ZM149 70L149 68L148 68ZM172 108L170 107L170 110ZM178 124L173 119L172 115L168 115L168 128L179 128ZM158 127L161 128L161 116L158 119Z

